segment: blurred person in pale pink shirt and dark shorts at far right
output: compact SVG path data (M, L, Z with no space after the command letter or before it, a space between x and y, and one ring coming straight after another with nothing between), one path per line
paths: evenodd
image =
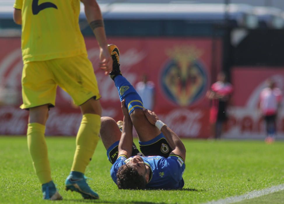
M267 80L267 87L260 93L259 108L266 124L267 136L265 141L271 143L276 137L276 119L279 112L282 100L282 93L276 87L276 83L269 79Z

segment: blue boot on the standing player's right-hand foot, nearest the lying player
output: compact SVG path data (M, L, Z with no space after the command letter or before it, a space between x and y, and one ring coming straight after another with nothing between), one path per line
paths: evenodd
M80 193L84 199L99 199L99 195L92 191L86 182L86 178L76 178L69 175L65 181L65 190L76 191Z

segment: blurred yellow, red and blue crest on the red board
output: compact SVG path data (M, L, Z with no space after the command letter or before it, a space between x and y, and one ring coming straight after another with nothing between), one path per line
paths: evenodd
M177 46L166 54L170 59L162 69L162 89L172 102L191 105L206 91L207 74L198 59L202 52L193 46Z

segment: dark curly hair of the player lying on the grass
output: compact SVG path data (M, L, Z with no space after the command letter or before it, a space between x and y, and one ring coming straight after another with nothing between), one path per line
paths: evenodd
M139 174L133 163L122 165L116 174L119 189L145 189L146 180Z

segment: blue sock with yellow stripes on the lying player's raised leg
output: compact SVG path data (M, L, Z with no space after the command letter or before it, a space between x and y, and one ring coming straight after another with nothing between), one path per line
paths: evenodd
M129 114L136 108L144 108L141 97L125 77L122 75L116 76L114 83L118 89L120 101L125 99L125 106L128 108Z

